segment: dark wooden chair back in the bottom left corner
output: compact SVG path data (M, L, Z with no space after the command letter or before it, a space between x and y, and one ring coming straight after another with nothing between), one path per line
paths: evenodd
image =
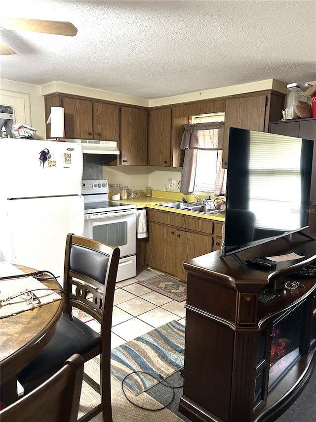
M76 422L83 375L83 358L75 354L30 394L4 408L1 422Z

